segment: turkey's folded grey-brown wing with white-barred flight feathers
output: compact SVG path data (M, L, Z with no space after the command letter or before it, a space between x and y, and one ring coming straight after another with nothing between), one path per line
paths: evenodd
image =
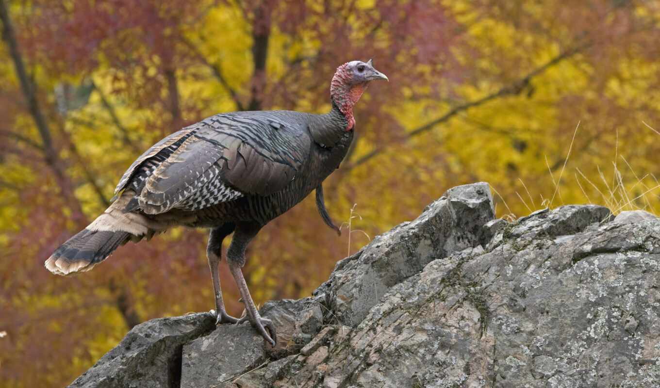
M180 135L185 139L176 150L147 176L137 198L147 214L275 193L294 179L310 152L300 113L226 113L191 127Z

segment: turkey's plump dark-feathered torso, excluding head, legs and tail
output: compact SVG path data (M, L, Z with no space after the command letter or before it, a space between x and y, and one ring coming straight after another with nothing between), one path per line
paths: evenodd
M116 192L127 202L123 211L152 221L145 235L173 222L263 226L339 167L353 138L345 126L345 117L334 109L326 115L214 115L152 146L125 172Z

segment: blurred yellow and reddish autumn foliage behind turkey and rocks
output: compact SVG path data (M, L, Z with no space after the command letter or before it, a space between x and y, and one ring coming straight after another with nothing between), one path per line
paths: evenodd
M213 307L205 230L129 243L94 271L43 263L150 145L209 115L327 112L338 65L374 58L356 141L251 244L257 303L454 185L498 216L597 203L658 213L660 3L633 0L0 0L0 385L71 382L134 325ZM228 310L242 304L226 265Z

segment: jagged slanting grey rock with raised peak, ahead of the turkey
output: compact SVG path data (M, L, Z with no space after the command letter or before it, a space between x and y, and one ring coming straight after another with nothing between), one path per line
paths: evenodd
M356 326L391 288L432 260L488 242L482 226L494 218L488 183L449 189L422 215L377 236L356 255L337 263L315 291L333 317Z

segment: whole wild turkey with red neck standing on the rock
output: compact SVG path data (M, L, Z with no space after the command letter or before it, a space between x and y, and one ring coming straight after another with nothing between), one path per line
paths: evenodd
M375 80L389 81L372 59L349 61L332 78L328 113L219 113L165 137L131 164L110 207L57 248L46 269L89 271L129 241L150 240L174 226L209 228L216 325L249 321L275 346L275 325L259 315L242 273L246 249L263 226L314 190L321 218L341 234L325 208L322 183L347 155L353 107ZM222 242L232 233L226 259L245 305L241 318L226 312L218 273Z

